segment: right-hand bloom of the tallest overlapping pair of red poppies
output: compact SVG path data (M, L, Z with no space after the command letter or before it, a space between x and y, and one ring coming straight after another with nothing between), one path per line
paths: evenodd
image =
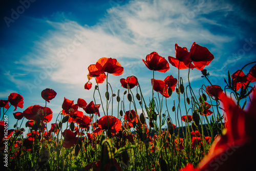
M203 70L214 59L214 55L207 48L199 46L194 42L190 48L190 59L193 61L196 69Z

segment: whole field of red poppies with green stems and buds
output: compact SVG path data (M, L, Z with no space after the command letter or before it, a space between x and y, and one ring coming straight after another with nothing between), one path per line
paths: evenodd
M122 75L124 69L116 59L103 57L88 67L84 91L93 91L93 98L64 98L59 114L53 114L47 106L57 95L50 88L41 92L45 106L35 104L23 112L16 112L23 109L22 95L11 93L0 100L2 167L6 170L253 170L256 62L227 73L226 86L220 87L211 84L204 69L214 60L206 47L194 42L188 51L176 44L175 54L165 59L152 52L142 59L145 70L152 70L150 97L143 96L136 76L120 79L122 90L113 92L108 76ZM178 75L168 75L164 80L155 77L156 72L168 73L170 67L176 68ZM244 68L249 68L249 72L245 74ZM187 75L181 76L180 70L186 70ZM206 79L208 85L194 91L190 70L198 70L199 77ZM91 79L96 80L95 85ZM185 79L188 84L183 84ZM99 84L105 84L105 89L100 89ZM96 97L100 100L96 101ZM170 104L167 98L178 100ZM5 120L12 113L17 121L10 129ZM53 115L57 115L56 120ZM22 123L26 123L28 134Z

